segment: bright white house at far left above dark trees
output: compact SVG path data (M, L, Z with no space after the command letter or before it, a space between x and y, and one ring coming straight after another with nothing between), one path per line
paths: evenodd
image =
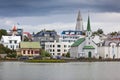
M11 50L19 49L19 43L21 42L20 36L2 36L1 44L8 47Z

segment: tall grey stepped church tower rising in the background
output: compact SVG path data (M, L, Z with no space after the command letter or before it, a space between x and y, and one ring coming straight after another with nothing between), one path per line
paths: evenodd
M82 23L82 17L81 17L80 11L78 12L75 30L76 31L83 31L83 23Z

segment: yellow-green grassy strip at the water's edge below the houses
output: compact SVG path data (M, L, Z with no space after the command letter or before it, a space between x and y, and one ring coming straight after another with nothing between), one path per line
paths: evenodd
M31 62L31 63L64 63L65 60L54 60L54 59L48 59L48 60L27 60L25 62Z

